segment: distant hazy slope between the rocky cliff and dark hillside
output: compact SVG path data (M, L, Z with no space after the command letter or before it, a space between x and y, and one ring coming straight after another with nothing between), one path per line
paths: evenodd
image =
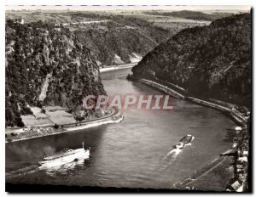
M90 48L99 65L131 63L135 56L143 56L158 45L144 31L113 21L93 27L86 25L75 34Z

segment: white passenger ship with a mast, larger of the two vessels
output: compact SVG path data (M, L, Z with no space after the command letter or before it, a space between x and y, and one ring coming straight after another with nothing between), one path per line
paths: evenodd
M44 160L39 161L40 166L61 166L63 164L78 161L80 159L87 159L90 155L90 148L84 149L84 142L82 149L67 149L64 153L44 157Z

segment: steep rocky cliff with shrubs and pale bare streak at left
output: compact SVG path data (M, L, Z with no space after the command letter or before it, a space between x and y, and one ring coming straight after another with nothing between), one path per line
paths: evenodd
M6 125L22 126L26 104L73 109L84 96L105 94L96 60L66 28L6 23Z

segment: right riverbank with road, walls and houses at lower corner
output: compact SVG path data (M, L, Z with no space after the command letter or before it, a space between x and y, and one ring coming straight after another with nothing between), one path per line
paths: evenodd
M177 85L171 83L165 83L163 85L160 84L160 82L153 82L148 79L137 79L133 76L128 76L127 79L131 81L142 82L149 87L154 87L155 89L170 94L175 98L182 98L191 103L201 104L214 110L219 110L224 113L224 115L228 115L230 119L236 124L243 127L243 129L241 129L241 127L236 127L236 137L233 138L232 149L227 150L223 154L219 155L218 158L208 163L206 166L203 166L198 171L193 172L188 178L176 183L174 185L176 189L212 189L219 191L248 190L247 152L249 132L247 130L247 124L249 120L247 116L242 115L241 112L236 110L233 104L224 103L222 101L214 100L211 98L203 100L200 98L190 97L189 93L183 89L183 87L178 87ZM168 85L170 85L172 88ZM211 101L215 102L213 103ZM209 183L212 188L208 188L206 183Z

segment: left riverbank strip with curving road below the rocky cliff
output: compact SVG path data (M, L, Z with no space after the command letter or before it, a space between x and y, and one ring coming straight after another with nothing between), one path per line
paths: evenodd
M63 124L61 127L26 127L20 128L20 132L5 138L5 143L16 142L31 138L41 138L49 135L56 135L63 132L78 131L89 127L97 127L104 124L122 121L124 115L121 110L113 108L111 114L91 121L79 121L71 124Z

